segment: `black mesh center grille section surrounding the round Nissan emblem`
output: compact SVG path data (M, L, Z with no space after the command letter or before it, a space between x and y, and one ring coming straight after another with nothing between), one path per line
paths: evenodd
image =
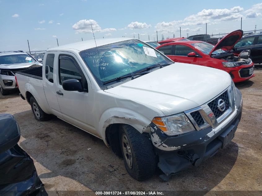
M226 104L224 111L220 111L217 107L219 99L222 99ZM229 97L228 97L227 91L222 93L220 96L215 98L213 101L209 102L207 105L210 107L210 109L214 113L215 117L219 118L222 114L224 114L225 111L227 111L229 109Z

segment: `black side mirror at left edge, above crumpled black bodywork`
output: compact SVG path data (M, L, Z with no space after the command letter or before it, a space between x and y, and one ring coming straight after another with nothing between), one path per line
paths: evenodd
M0 114L0 154L20 140L20 128L11 114Z

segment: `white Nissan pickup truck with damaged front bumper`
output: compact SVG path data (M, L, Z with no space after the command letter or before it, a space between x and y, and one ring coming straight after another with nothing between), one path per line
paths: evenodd
M42 68L16 78L37 120L53 114L99 137L136 180L198 166L232 140L242 114L228 73L174 63L131 38L49 49Z

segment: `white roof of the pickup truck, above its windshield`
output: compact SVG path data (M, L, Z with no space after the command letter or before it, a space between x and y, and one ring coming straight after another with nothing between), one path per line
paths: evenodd
M75 42L75 43L71 43L71 44L66 44L63 46L58 46L55 48L51 48L48 51L59 51L61 49L72 49L72 50L78 50L78 51L82 51L82 50L87 50L90 48L94 48L96 46L104 46L107 44L112 44L112 43L116 43L119 41L125 41L125 40L131 40L134 38L128 38L128 37L120 37L120 38L103 38L103 39L92 39L92 40L87 40L87 41L79 41L79 42ZM95 41L96 41L96 45L95 45Z

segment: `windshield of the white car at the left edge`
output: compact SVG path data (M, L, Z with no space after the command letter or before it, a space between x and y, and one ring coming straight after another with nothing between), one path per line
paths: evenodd
M9 54L0 56L0 64L17 64L36 62L28 54Z

